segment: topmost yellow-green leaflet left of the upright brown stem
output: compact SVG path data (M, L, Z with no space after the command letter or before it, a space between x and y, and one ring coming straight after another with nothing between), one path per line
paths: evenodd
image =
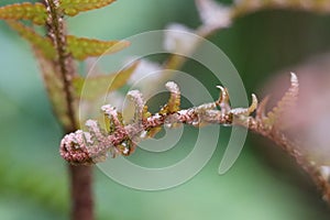
M0 8L2 20L30 20L35 24L43 25L47 20L47 11L42 3L14 3Z

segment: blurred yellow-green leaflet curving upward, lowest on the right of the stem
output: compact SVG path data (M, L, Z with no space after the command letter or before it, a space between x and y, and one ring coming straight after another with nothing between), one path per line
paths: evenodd
M132 64L130 67L111 75L98 75L88 78L74 78L74 87L76 95L85 99L95 99L101 95L114 91L124 86L130 79L139 62Z

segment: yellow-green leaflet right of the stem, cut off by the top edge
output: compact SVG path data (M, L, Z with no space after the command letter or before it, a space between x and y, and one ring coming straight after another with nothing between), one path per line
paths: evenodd
M65 14L74 16L79 12L99 9L112 2L114 0L61 0L59 7Z

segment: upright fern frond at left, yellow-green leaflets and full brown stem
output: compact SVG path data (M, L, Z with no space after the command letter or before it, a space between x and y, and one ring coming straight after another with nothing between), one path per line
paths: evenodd
M65 133L79 128L78 100L90 98L80 96L85 74L77 72L76 61L85 62L88 57L116 53L129 45L125 41L100 41L69 35L65 18L99 9L112 2L113 0L44 0L0 8L0 19L31 44L41 67L53 111ZM43 26L43 31L37 26ZM116 86L111 88L118 89L125 85L135 67L136 64L133 64L121 72L89 77L89 84L118 78ZM72 183L72 218L94 219L92 169L72 165L68 168Z

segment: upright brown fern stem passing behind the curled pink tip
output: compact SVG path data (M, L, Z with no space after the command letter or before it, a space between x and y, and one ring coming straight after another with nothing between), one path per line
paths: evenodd
M77 130L78 123L75 111L75 97L73 95L72 78L77 75L73 57L66 52L66 31L63 14L58 10L58 0L44 0L47 8L47 30L56 52L56 66L59 77L63 80L65 92L66 114L69 119L68 125L63 124L65 133ZM72 191L72 219L92 220L94 219L94 198L92 198L92 168L87 166L68 165L70 175Z

